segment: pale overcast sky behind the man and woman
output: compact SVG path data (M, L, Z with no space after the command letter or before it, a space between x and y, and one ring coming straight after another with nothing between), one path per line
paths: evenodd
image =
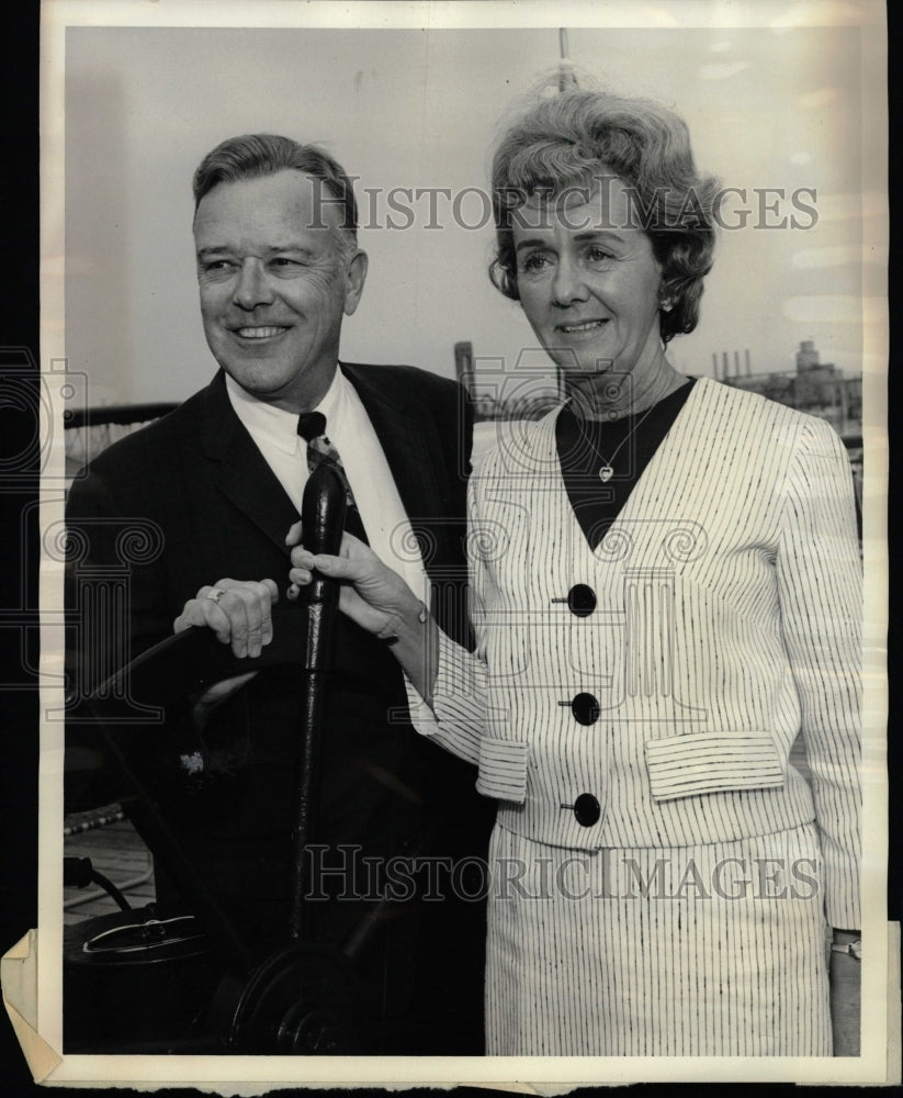
M737 222L746 209L746 227L721 234L699 328L671 344L689 373L710 374L713 352L720 361L727 351L733 366L740 351L743 363L747 348L754 372L791 369L802 339L849 374L862 369L862 265L883 264L885 253L864 246L883 181L867 179L874 194L864 197L859 33L786 23L568 32L577 66L674 107L698 165L746 191L726 208ZM506 107L557 57L551 26L70 27L66 356L89 373L92 402L179 400L212 376L190 180L213 145L253 131L323 143L360 177L370 276L342 357L452 376L453 344L469 339L488 369L510 371L533 341L519 307L486 277L492 227L455 225L440 195L442 227L430 229L427 200L396 195L414 224L388 228L388 217L405 219L387 195L485 189ZM760 198L764 188L783 200ZM485 221L473 192L459 198L459 213ZM793 217L801 227L790 227ZM785 227L763 225L785 219Z

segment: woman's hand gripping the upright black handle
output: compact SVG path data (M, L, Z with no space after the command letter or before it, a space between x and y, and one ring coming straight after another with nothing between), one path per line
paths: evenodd
M301 587L311 583L316 569L320 575L342 581L339 609L368 632L386 638L395 635L405 620L418 619L422 604L410 587L353 535L342 535L338 557L314 556L300 540L301 523L295 523L285 538L286 545L294 546L289 598L298 597Z

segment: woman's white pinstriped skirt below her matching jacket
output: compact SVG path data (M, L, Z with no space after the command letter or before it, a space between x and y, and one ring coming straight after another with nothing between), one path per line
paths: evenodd
M487 1053L831 1055L820 862L813 825L596 852L497 826Z

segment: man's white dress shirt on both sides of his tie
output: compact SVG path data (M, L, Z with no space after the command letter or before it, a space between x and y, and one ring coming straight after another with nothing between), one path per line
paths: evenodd
M297 413L258 400L228 376L226 392L235 414L301 514L308 473L307 444L297 434ZM418 598L427 601L424 561L392 470L360 396L341 370L336 370L326 395L311 411L326 416L326 435L341 457L371 549L404 578Z

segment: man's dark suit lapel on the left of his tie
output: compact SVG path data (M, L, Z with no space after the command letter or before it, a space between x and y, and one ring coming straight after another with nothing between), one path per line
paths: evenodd
M202 446L214 483L284 552L297 511L235 414L222 371L204 391L201 415Z

